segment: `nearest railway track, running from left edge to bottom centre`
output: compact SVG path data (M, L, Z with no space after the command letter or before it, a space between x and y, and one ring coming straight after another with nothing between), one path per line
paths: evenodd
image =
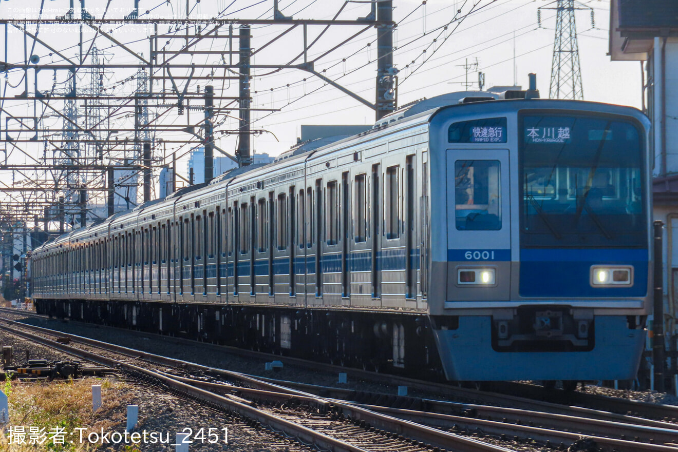
M9 333L26 337L102 365L119 367L125 371L155 379L169 388L252 419L271 428L274 432L282 432L287 436L292 436L303 445L313 445L323 450L348 452L384 450L428 452L431 450L446 451L448 449L460 452L509 451L509 449L483 443L473 438L466 438L452 432L445 432L397 417L376 413L351 403L317 398L313 394L304 394L271 383L259 382L254 377L247 375L186 363L185 361L148 354L115 344L106 344L86 337L24 325L7 319L1 320L6 324L13 325L12 327L0 325L1 329ZM20 329L17 327L20 327ZM29 333L25 329L30 329L39 334ZM68 337L74 344L98 348L100 352L95 353L83 348L60 344L56 340L45 337L45 335ZM106 354L102 354L102 351ZM106 356L110 353L121 354L123 359ZM131 361L135 361L137 364L132 364ZM144 366L138 365L139 363L144 363ZM177 377L171 373L159 371L159 369L148 369L149 363L169 367L170 370L182 369L188 371L190 369L191 372L201 371L201 373L218 371L222 375L227 375L231 380L239 379L250 386L258 386L258 388L239 387L238 390L256 394L256 400L260 403L262 400L266 400L269 405L262 406L252 403L252 400L230 394L233 390L232 385L218 385L221 386L221 392L226 392L226 394L219 394L214 386L211 390L200 388L199 386L205 386L205 382L191 381L189 378ZM285 403L292 403L290 409L287 409Z

